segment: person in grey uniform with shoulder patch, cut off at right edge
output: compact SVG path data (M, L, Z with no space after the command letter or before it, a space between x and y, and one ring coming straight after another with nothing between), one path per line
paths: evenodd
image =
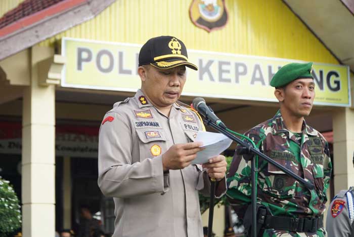
M326 219L328 236L354 237L354 187L341 190L329 207Z

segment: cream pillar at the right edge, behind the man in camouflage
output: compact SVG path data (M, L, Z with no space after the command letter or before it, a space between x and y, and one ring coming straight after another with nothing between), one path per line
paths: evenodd
M333 115L334 193L354 185L354 110L341 108Z

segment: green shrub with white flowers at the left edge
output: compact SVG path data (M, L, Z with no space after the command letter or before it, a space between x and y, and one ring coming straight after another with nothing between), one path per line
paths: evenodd
M21 227L21 207L10 182L0 176L0 236Z

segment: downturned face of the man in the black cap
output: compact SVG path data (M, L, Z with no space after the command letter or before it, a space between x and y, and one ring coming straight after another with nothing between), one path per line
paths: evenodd
M176 102L186 83L184 65L164 70L149 65L139 67L138 73L142 80L142 91L157 107L169 107Z

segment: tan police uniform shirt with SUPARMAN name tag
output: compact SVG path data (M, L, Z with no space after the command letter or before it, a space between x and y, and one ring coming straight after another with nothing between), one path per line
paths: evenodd
M189 165L163 174L161 159L170 146L193 141L201 129L191 110L173 104L166 117L140 90L106 113L98 184L114 199L113 237L203 236L198 190L210 192L206 172Z

